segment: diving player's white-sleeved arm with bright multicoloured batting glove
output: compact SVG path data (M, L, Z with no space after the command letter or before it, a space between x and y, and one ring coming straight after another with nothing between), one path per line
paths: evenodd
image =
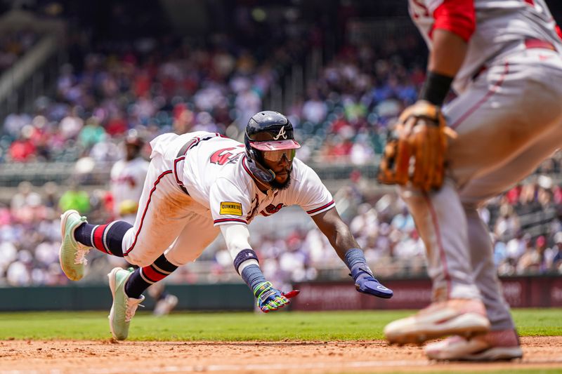
M248 243L249 231L246 225L221 225L221 232L228 251L233 256L234 268L254 293L261 312L268 313L285 307L291 302L291 298L299 295L299 290L283 293L263 276L258 256Z

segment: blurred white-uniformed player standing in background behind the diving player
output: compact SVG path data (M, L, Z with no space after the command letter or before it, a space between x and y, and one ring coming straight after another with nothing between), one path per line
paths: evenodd
M149 162L141 154L144 145L143 138L136 130L129 131L124 140L125 158L113 165L110 174L115 219L130 225L135 223L138 201L148 173ZM125 261L123 265L126 265ZM148 294L156 302L154 314L157 316L169 314L178 304L178 298L164 290L164 283L149 287Z

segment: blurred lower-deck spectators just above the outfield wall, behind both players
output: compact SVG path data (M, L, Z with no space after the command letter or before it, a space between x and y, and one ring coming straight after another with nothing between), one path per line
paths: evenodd
M374 272L381 277L426 275L424 245L405 204L395 192L365 193L371 189L363 189L364 182L359 179L344 187L335 199ZM74 183L62 195L58 192L50 182L41 189L22 182L10 206L0 206L0 284L67 283L58 264L60 212L75 208L91 222L112 218L112 199L103 189L86 192ZM347 276L327 239L306 215L284 220L282 214L276 219L287 225L287 232L264 229L271 227L265 225L252 237L268 279L294 282ZM490 200L481 216L490 227L499 275L562 274L562 185L535 175ZM103 274L115 266L112 260L116 259L91 251L92 274L86 281L104 279ZM221 239L200 260L170 277L179 283L233 280L238 276Z

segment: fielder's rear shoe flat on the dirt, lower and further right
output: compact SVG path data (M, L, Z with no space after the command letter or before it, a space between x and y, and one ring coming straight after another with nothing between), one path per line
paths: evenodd
M514 330L490 331L470 340L451 336L426 345L424 351L429 359L450 361L503 361L523 356Z

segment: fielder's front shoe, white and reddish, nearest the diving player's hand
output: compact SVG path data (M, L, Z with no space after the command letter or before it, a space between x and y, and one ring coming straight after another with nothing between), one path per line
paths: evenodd
M384 335L391 344L421 344L447 335L471 338L487 333L490 321L481 300L433 302L413 316L388 323Z

